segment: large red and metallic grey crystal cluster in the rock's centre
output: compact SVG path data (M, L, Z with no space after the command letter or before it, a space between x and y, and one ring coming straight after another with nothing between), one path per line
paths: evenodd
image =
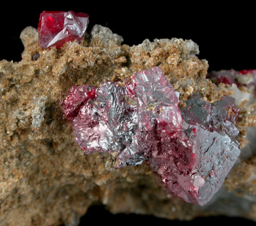
M179 93L156 67L98 88L73 86L63 107L86 154L112 153L117 167L145 161L179 198L204 205L240 154L234 103L194 94L179 108Z

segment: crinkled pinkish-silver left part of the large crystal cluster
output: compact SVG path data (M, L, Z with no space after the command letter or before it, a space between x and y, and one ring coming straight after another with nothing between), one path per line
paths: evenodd
M86 154L122 152L131 145L137 128L136 105L125 101L125 86L106 82L94 99L83 104L73 120L75 141Z

